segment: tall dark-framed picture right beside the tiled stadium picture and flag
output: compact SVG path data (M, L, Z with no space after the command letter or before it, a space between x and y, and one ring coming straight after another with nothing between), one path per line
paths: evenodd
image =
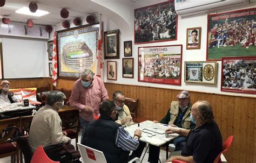
M105 59L119 59L119 30L104 32Z

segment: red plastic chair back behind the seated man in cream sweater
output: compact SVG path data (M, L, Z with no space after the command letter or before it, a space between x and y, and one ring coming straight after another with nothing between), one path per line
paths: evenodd
M44 148L39 146L36 148L30 163L59 163L59 161L52 161L49 159L49 157L44 152Z

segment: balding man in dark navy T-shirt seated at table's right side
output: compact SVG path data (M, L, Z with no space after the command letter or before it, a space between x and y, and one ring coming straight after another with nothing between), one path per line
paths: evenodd
M213 162L221 152L222 137L217 123L213 120L211 104L207 101L197 101L192 106L190 117L196 127L188 133L181 155L172 155L166 161L179 159L186 162ZM169 129L166 132L168 133Z

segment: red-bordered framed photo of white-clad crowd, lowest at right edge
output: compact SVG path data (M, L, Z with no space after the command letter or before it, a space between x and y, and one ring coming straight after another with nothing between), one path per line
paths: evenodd
M256 94L256 56L223 57L221 91Z

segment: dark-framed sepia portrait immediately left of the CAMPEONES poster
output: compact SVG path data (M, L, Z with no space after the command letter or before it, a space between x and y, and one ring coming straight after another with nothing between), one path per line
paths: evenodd
M123 77L133 78L133 58L123 58Z

